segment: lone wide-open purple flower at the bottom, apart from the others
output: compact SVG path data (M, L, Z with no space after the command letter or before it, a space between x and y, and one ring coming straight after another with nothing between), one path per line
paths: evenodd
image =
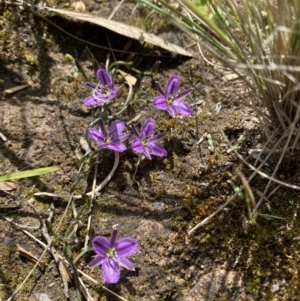
M102 273L105 282L117 283L120 279L120 266L134 271L133 264L126 258L138 250L138 243L131 237L121 238L117 241L118 231L113 230L110 241L104 236L96 236L92 246L97 256L89 267L102 264Z

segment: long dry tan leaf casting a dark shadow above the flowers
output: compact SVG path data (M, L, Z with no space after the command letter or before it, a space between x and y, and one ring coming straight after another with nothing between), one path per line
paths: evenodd
M169 43L166 40L159 38L152 33L148 33L146 31L143 31L142 29L134 27L134 26L126 25L121 22L104 19L104 18L86 14L86 13L71 12L71 11L67 11L64 9L56 9L56 8L51 8L51 7L46 7L46 9L48 9L49 11L52 11L52 12L56 12L61 15L65 15L65 16L77 19L77 20L86 21L86 22L100 25L100 26L105 27L109 30L112 30L116 33L119 33L123 36L138 40L141 43L147 42L147 43L156 45L158 47L161 47L163 49L166 49L168 51L171 51L171 52L175 52L175 53L182 54L185 56L193 57L193 54L186 51L182 47L174 45L172 43Z

